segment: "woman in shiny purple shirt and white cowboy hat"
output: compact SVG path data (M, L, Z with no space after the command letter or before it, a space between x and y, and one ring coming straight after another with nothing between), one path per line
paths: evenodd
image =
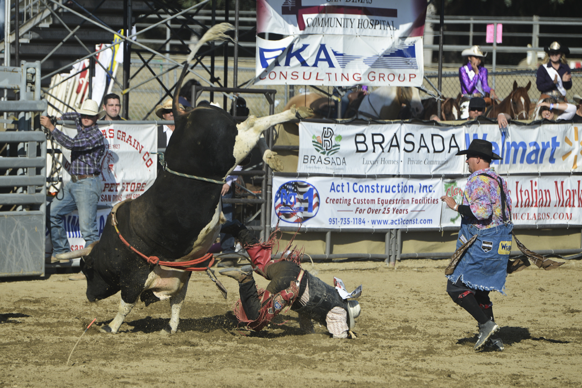
M473 97L485 97L489 93L491 99L497 99L495 90L489 87L487 83L487 69L482 65L485 55L479 46L464 49L461 53L467 56L467 63L459 67L459 81L461 83L461 94L463 102L461 103L461 118L469 117L469 100Z

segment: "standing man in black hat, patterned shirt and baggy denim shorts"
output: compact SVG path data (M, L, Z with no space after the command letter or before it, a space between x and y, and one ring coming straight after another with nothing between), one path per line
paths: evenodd
M489 291L505 288L509 253L512 244L511 197L506 182L489 167L491 161L502 159L492 152L487 140L475 139L469 149L457 152L467 155L471 175L463 193L463 204L452 197L441 200L462 215L457 252L466 248L454 272L447 277L449 296L477 320L479 334L475 350L485 343L503 350L501 339L492 335L499 330L493 317ZM456 254L457 254L456 252ZM453 256L454 257L454 256Z

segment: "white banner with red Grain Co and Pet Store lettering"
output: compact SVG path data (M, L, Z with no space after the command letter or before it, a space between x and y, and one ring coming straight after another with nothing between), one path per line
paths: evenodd
M103 191L98 205L112 207L127 198L137 198L155 181L157 158L150 152L158 149L155 124L111 124L100 126L105 137L105 156L101 161ZM74 127L63 126L70 137L77 134ZM63 152L63 185L70 180L70 151Z

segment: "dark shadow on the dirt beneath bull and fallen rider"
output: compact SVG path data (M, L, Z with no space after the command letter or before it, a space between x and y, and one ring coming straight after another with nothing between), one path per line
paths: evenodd
M135 321L126 322L128 326L133 328L129 330L131 333L156 333L160 332L162 329L168 325L168 318L151 318L147 316L143 319L136 319ZM275 322L271 322L269 325L270 330L261 330L260 332L248 331L244 329L244 326L240 325L236 319L236 316L232 311L226 314L215 315L203 318L183 318L180 319L178 325L179 332L198 332L198 333L211 333L216 330L222 330L225 334L234 330L242 330L243 335L249 337L258 338L279 338L285 336L296 336L303 334L299 327L288 326L285 323L296 323L297 318L289 315L279 315L275 318ZM105 324L108 322L102 322ZM273 330L276 332L274 333ZM281 330L281 331L279 331ZM248 334L247 334L248 333Z

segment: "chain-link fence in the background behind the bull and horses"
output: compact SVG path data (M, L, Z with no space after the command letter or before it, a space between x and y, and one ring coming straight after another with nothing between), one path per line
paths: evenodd
M140 69L141 63L132 63L132 76L136 74L137 70ZM152 61L150 62L150 67L152 70L157 71L159 73L166 72L166 70L170 69L173 65L168 63L163 63L159 61L158 63ZM163 74L160 79L164 86L173 92L173 86L178 81L178 77L180 76L180 72L182 71L181 68L176 68L170 70L168 73ZM196 71L200 74L204 73L203 69L199 67L196 68ZM215 74L217 77L223 77L223 67L216 66L215 67ZM506 70L501 72L491 72L489 73L489 86L493 87L500 99L505 98L509 93L513 90L513 82L517 81L518 86L526 86L528 82L531 81L531 87L529 90L529 96L531 101L537 101L540 97L540 91L537 90L535 85L535 73L536 70ZM245 81L248 81L254 77L255 69L254 67L250 66L243 66L239 67L238 69L238 83L242 84ZM208 77L208 74L206 74ZM434 86L438 85L438 74L437 72L425 72L425 76L428 80L431 81ZM118 75L118 79L121 78L122 75ZM147 69L142 69L137 76L134 76L133 79L130 81L131 85L139 85L144 81L147 81L152 77L152 74L148 72ZM196 79L197 77L194 74L187 74L186 80L189 79ZM208 77L210 78L210 77ZM233 71L232 67L229 67L228 73L228 84L232 86L232 79L233 79ZM221 80L222 81L222 80ZM574 94L582 95L582 69L573 69L572 70L572 81L573 87L572 89L567 91L567 99L568 101L572 102L572 96ZM205 83L203 82L205 85ZM423 83L424 87L427 90L432 92L434 88L428 83L425 79ZM495 87L494 87L495 86ZM288 101L289 91L292 90L295 95L300 94L301 92L310 91L310 92L320 92L314 87L310 86L303 86L303 85L295 85L295 86L285 86L285 85L277 85L277 86L251 86L250 88L269 88L275 89L277 91L275 98L275 113L282 112L283 108L285 107L286 102ZM318 87L320 90L324 90L329 94L332 93L332 87ZM118 86L113 87L112 90L114 93L120 94L120 89ZM460 92L460 84L459 84L459 73L458 72L445 72L442 74L442 93L445 97L456 97L457 94ZM155 120L157 116L155 116L154 108L155 105L159 104L159 102L164 99L165 96L165 89L161 86L161 84L157 80L150 80L147 81L140 86L132 89L130 91L130 98L129 98L129 119L131 120ZM427 98L429 95L424 91L421 91L421 98ZM269 104L267 99L261 94L242 94L241 97L246 99L247 106L250 109L250 113L255 116L266 116L269 114ZM211 101L210 99L210 92L203 92L203 94L198 98L198 102L202 100ZM224 105L223 95L219 92L214 93L214 102L218 103L222 108L226 110L230 109L230 100L226 101L226 106Z

